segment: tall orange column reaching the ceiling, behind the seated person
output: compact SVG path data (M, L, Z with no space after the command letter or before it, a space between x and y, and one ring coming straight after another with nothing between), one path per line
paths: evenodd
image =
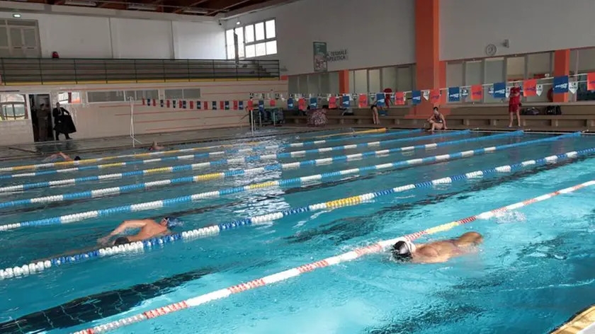
M446 88L446 62L440 61L440 0L415 0L415 60L416 89ZM429 117L433 107L422 98L413 115Z

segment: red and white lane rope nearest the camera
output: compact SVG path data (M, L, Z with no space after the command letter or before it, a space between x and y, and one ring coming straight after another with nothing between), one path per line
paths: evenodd
M311 272L313 270L317 270L322 267L329 267L331 265L336 265L338 263L348 262L351 260L355 260L356 258L360 258L363 255L372 254L372 253L380 253L386 248L394 245L399 240L409 240L414 241L416 238L421 236L426 236L429 234L436 234L442 231L448 231L455 226L460 226L463 224L470 223L471 221L476 221L480 219L490 219L494 217L495 214L499 212L506 212L514 209L519 209L521 207L525 207L526 205L530 205L536 202L542 202L544 200L548 200L552 197L557 195L566 194L568 192L573 192L575 190L579 190L581 188L589 187L591 185L595 185L595 180L590 180L585 183L581 183L579 185L574 185L570 188L565 188L562 190L557 190L555 192L550 192L546 195L541 195L538 197L531 198L530 200L524 200L522 202L517 202L511 205L506 205L506 207L500 207L498 209L493 209L491 211L483 212L481 214L477 214L475 216L467 217L464 219L460 219L457 221L451 221L447 224L442 224L438 226L431 227L430 229L425 229L424 231L419 231L414 234L407 234L406 236L401 236L399 238L392 238L389 240L378 241L377 243L373 243L371 245L356 248L351 250L347 253L343 253L340 255L332 256L331 258L325 258L324 260L319 260L314 263L309 263L307 265L300 265L300 267L295 267L290 270L285 270L283 272L278 272L273 275L268 275L266 277L261 277L256 280L252 280L250 282L245 282L242 284L234 285L233 287L227 287L225 289L220 289L214 292L210 292L208 294L202 294L200 296L193 297L191 299L186 299L184 301L180 301L178 303L169 304L166 306L159 307L157 309L152 309L149 311L145 311L142 313L138 313L134 316L128 316L126 318L122 318L118 321L111 321L104 325L96 326L93 328L87 328L84 330L79 330L74 334L96 334L96 333L106 333L110 330L115 330L116 328L121 328L123 326L131 325L132 323L138 323L140 321L146 321L152 318L157 318L158 316L164 316L167 313L172 313L175 311L180 311L182 309L188 309L189 307L199 306L202 304L206 304L210 301L214 301L217 299L222 299L232 294L237 294L239 292L244 292L246 290L254 289L256 287L262 287L264 285L273 284L276 282L288 280L291 277L296 277L305 272Z

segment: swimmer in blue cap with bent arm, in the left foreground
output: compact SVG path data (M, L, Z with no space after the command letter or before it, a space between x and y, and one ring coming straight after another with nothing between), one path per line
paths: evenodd
M166 236L171 234L169 229L173 229L176 226L181 226L180 219L176 217L164 217L159 223L153 219L127 220L120 224L118 228L111 231L111 234L108 234L103 238L98 238L97 242L106 245L111 238L118 236L118 234L123 234L128 229L140 229L140 231L133 236L120 236L113 242L114 246L123 245L125 243L142 241L156 236Z

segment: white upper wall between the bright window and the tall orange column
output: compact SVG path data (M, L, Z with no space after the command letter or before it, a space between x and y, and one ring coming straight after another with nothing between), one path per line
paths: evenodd
M330 62L329 71L415 62L414 0L302 0L238 19L245 25L268 18L276 18L278 54L267 58L279 59L288 69L283 74L314 71L314 41L327 42L329 51L348 49L349 59Z

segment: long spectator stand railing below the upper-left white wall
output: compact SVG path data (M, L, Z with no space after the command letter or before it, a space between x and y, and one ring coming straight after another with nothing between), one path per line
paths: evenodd
M0 58L2 84L279 79L278 60Z

